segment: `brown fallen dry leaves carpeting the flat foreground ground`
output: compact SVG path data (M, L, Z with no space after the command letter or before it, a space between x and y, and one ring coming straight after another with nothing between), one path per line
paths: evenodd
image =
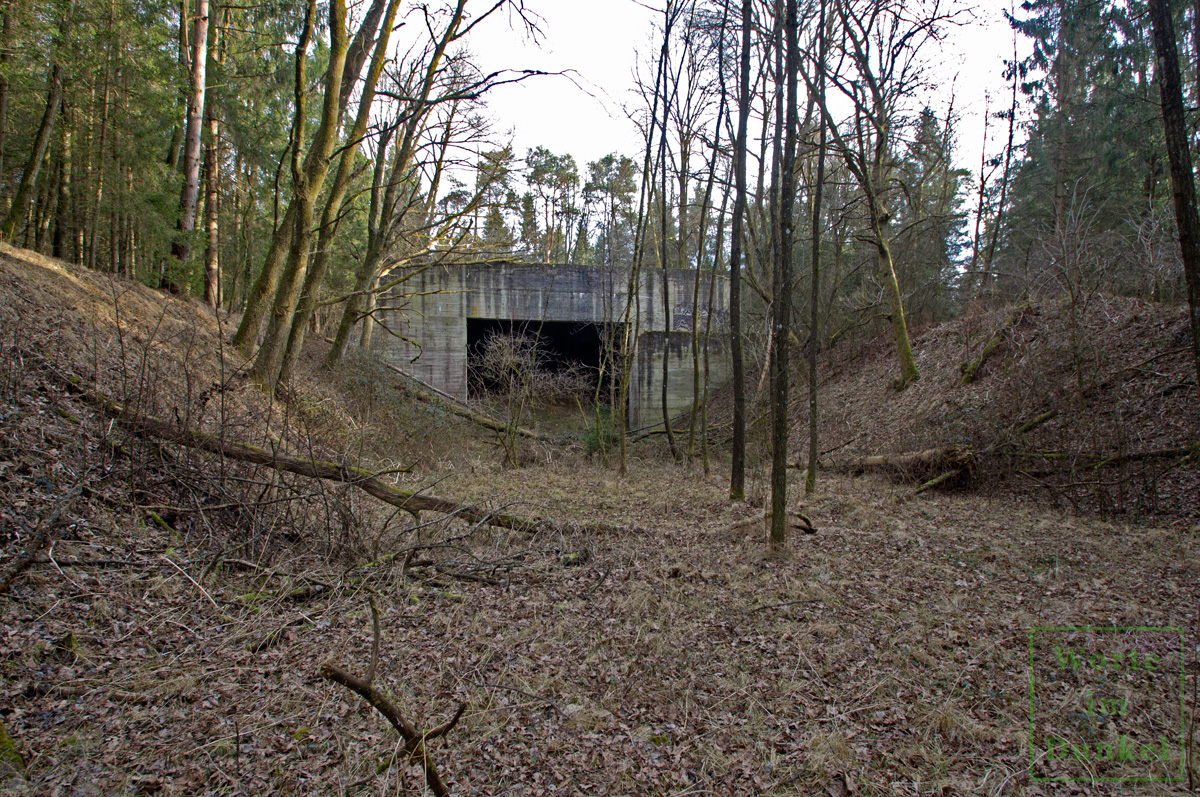
M304 603L226 569L205 588L214 605L180 575L208 553L182 549L40 565L0 604L4 719L29 778L8 787L416 790L390 727L317 677L330 657L365 667L367 591L383 613L377 683L426 726L469 705L437 751L462 795L1036 793L1027 629L1178 625L1194 677L1200 558L1186 532L838 479L804 505L821 534L773 561L757 535L726 533L751 509L728 505L715 477L656 465L622 481L576 463L450 481L470 499L548 496L540 513L623 531L476 529L444 552L518 562L500 587L398 564L347 571L300 549L271 567L335 585ZM61 555L112 544L96 534ZM139 546L169 540L144 529ZM580 550L586 564L564 565Z

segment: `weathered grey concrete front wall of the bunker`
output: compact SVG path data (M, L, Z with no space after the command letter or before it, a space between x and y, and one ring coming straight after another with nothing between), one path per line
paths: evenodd
M629 385L630 426L662 424L662 359L667 359L667 407L677 414L691 407L692 290L696 272L667 271L671 319L662 307L662 272L641 275L630 313L636 319L635 360ZM385 356L414 377L458 398L467 398L467 319L619 323L625 312L626 271L580 265L438 266L396 288L383 302L380 320L403 337L383 334ZM701 275L700 338L703 346L712 307L708 389L730 374L728 280L716 277L709 304L710 275ZM701 352L703 367L703 352ZM703 380L702 380L703 382ZM702 385L703 386L703 385Z

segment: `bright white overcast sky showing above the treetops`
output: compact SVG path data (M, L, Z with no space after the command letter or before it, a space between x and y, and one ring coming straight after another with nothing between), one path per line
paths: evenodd
M580 174L587 163L608 152L640 161L641 138L623 107L636 102L634 70L655 44L652 20L661 17L635 0L524 0L540 17L540 44L528 41L505 19L490 19L473 31L469 47L484 70L529 68L571 71L570 77L534 77L488 94L497 131L514 132L514 149L523 157L536 145L575 157ZM941 89L929 98L944 114L953 88L958 116L958 164L977 174L983 137L985 96L990 112L1006 109L1009 95L1001 79L1002 59L1012 58L1013 37L1002 11L1004 0L971 5L962 24L948 31L942 52L928 53ZM1021 42L1021 55L1027 46ZM643 70L646 67L643 66ZM989 154L998 151L1006 122L989 124Z

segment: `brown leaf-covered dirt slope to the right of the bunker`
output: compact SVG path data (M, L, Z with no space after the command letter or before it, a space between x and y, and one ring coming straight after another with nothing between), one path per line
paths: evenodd
M922 377L902 392L889 388L895 365L886 340L834 347L818 394L828 461L970 447L979 466L959 483L965 490L1127 520L1200 520L1200 453L1164 455L1200 444L1186 310L1094 296L1078 308L1074 344L1064 301L1015 311L918 330ZM962 366L996 332L998 347L964 385ZM793 449L804 451L808 401L803 386L797 392Z

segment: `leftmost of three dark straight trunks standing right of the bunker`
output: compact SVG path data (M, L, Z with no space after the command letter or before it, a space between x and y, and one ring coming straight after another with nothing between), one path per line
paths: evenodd
M733 222L730 230L730 354L733 360L733 462L730 498L745 499L746 377L742 354L742 227L746 211L746 128L750 119L751 0L742 0L742 62L738 84L738 138L733 146Z

